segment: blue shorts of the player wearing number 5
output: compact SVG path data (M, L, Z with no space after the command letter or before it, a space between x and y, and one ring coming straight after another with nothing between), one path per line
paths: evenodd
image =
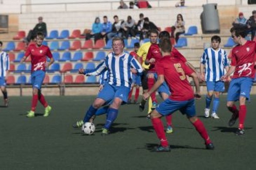
M186 101L175 101L171 99L166 99L156 107L161 115L170 115L179 110L183 115L187 117L193 117L196 115L195 100L190 99Z

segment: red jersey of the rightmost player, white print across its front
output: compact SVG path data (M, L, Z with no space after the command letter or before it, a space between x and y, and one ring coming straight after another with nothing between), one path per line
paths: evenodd
M244 45L237 45L232 49L231 65L236 66L232 78L251 77L254 79L256 61L256 43L247 41Z

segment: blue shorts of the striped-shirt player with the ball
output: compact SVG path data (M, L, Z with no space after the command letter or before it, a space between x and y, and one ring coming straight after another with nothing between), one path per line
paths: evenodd
M123 102L127 103L130 90L131 89L129 87L112 86L108 83L105 83L102 91L98 93L97 98L105 100L106 103L112 103L111 101L118 97Z

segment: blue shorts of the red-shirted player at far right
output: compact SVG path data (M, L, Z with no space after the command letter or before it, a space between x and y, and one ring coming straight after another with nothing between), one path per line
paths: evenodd
M240 77L232 79L227 92L227 101L237 101L240 96L250 99L250 91L253 85L253 79L250 77Z

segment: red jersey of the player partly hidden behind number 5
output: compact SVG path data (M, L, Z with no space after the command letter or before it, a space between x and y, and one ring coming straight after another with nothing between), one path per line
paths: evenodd
M172 48L171 56L180 58L184 63L187 62L186 58L176 48ZM151 58L154 58L155 62L150 64L149 71L156 72L155 64L162 58L158 44L152 44L148 49L148 55L146 59L149 61Z

